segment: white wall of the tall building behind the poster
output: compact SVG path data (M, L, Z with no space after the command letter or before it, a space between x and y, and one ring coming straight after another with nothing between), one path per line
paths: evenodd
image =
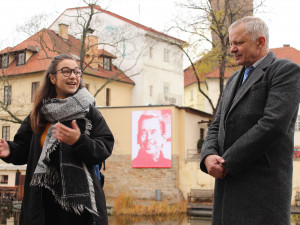
M80 14L87 16L90 9L81 9ZM51 26L50 29L58 32L58 25L69 25L69 33L80 39L81 31L76 19L79 11L70 9L64 12ZM122 69L134 82L132 89L132 105L170 104L161 102L163 87L168 84L169 93L177 99L176 105L183 105L184 76L182 66L182 52L172 44L173 38L146 31L122 19L97 13L91 23L93 35L103 43L99 48L104 48L117 56L114 65ZM110 46L110 43L115 46ZM149 49L152 48L151 57ZM164 49L169 51L168 62L164 61ZM153 97L149 96L149 86L153 85Z

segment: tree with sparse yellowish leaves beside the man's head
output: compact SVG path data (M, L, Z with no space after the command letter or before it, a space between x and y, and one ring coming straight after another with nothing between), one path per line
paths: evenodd
M187 0L186 3L178 3L178 6L188 11L189 18L179 18L171 29L177 29L189 34L189 46L181 48L191 63L191 68L197 78L198 89L208 100L213 115L220 102L224 89L225 71L237 70L230 54L228 28L231 23L246 15L252 15L253 10L263 4L259 0L255 9L253 1L249 0ZM207 43L209 45L207 45ZM209 46L204 48L204 46ZM180 46L179 46L180 47ZM204 80L208 88L204 74L214 69L219 70L219 98L216 104L213 99L202 90L200 81Z

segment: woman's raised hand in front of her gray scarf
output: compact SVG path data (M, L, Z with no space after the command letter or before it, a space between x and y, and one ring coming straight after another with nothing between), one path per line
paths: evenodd
M80 129L75 120L72 121L72 128L58 122L53 126L52 133L57 140L68 145L73 145L81 135Z

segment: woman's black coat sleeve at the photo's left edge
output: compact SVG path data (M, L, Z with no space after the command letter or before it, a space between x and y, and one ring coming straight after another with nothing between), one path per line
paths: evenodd
M27 116L14 136L14 140L7 142L10 149L10 155L7 158L3 158L3 161L15 165L26 164L32 134L33 131L30 126L29 116Z

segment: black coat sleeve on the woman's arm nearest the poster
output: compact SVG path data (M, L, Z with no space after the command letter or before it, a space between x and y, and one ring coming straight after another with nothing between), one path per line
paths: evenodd
M74 154L83 162L96 165L111 155L114 137L103 116L94 106L90 108L88 119L92 124L90 135L81 134L72 147Z

